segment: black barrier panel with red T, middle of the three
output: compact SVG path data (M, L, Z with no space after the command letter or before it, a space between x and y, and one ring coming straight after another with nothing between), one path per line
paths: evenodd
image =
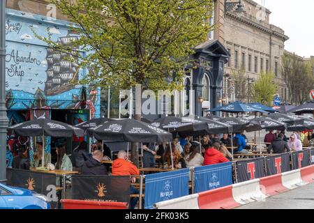
M265 157L266 176L285 173L290 168L290 153Z

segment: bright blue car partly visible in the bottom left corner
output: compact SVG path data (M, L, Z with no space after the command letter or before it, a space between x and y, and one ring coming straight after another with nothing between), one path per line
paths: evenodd
M0 209L50 209L50 203L45 195L0 183Z

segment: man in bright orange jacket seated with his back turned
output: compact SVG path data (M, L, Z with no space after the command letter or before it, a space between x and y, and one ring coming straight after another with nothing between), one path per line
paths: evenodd
M127 157L126 151L119 151L117 160L114 160L112 164L112 176L135 176L140 175L139 169L132 164ZM132 183L135 183L136 178L131 179ZM140 194L134 187L130 187L131 194ZM134 209L137 204L138 198L133 197L130 199L130 209Z

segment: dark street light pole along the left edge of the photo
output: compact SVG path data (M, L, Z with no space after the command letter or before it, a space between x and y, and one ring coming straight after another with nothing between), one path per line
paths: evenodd
M0 183L6 183L6 0L0 7Z

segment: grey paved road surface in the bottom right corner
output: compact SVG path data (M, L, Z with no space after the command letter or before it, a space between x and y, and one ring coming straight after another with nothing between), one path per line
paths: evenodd
M314 209L314 183L236 209Z

